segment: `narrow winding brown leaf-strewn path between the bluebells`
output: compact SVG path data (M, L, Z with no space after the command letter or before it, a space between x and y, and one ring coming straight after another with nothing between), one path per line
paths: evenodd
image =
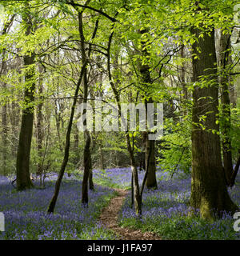
M152 232L142 233L141 230L129 230L118 226L118 212L121 210L122 203L126 197L127 190L119 190L118 196L112 198L108 206L102 210L100 221L107 228L117 234L119 240L161 240L157 235Z

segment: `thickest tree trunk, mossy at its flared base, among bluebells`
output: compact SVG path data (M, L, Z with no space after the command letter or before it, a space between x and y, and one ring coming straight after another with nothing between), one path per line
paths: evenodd
M220 138L218 136L218 77L214 29L203 38L202 30L193 29L198 42L193 45L193 128L191 206L200 209L202 218L213 219L222 210L234 212L238 207L231 201L222 170ZM199 50L199 52L198 52ZM198 56L198 58L195 58ZM202 86L205 75L208 86ZM206 116L201 120L201 116ZM204 126L205 129L202 129Z

